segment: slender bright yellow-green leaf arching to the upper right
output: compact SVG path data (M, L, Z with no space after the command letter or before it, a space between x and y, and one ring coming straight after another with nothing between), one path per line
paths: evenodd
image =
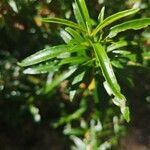
M121 11L112 16L107 17L103 22L100 22L99 25L93 30L91 36L96 35L100 30L102 30L104 27L110 25L111 23L113 23L123 17L135 14L138 11L139 11L139 9L129 9L129 10Z

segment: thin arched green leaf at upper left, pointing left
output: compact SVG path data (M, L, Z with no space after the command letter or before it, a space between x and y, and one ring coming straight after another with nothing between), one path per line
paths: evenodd
M52 18L51 17L51 18L42 18L42 21L47 22L47 23L57 23L57 24L61 24L61 25L65 25L65 26L68 26L68 27L78 29L82 32L86 32L86 30L82 26L80 26L79 24L74 23L74 22L69 21L69 20L66 20L66 19Z

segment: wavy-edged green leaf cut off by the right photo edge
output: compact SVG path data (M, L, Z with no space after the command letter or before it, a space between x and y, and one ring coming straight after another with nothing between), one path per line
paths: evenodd
M110 29L108 37L112 38L125 30L139 30L150 25L150 18L135 19L116 25Z

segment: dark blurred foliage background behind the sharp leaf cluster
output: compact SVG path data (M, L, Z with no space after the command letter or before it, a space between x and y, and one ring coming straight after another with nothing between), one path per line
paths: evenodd
M120 117L102 85L97 89L101 100L89 93L70 102L65 82L44 94L41 89L49 84L51 74L24 75L17 65L45 46L63 42L60 27L43 24L39 17L74 20L72 2L0 1L0 149L82 150L85 144L89 150L91 145L100 150L150 149L150 28L125 33L138 43L136 65L117 72L131 108L129 124ZM150 17L149 0L87 0L87 5L93 18L103 6L106 16L139 7L135 18Z

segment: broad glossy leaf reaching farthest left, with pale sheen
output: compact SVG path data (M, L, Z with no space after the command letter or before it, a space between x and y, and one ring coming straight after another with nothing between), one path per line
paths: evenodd
M65 52L76 52L76 51L81 51L84 50L85 47L84 46L67 46L67 45L59 45L59 46L54 46L54 47L48 47L44 50L41 50L27 58L25 58L24 60L22 60L20 63L18 63L18 65L26 67L26 66L30 66L30 65L34 65L52 58L55 58L57 56L59 56L62 53Z

